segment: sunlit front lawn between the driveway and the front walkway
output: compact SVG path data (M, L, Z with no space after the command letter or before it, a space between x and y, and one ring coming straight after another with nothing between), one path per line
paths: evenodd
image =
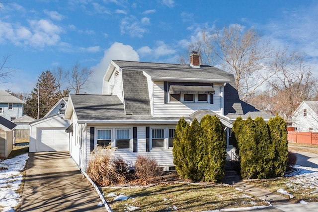
M127 211L129 206L143 212L173 211L201 212L227 208L268 206L231 186L203 186L194 184L159 184L146 188L103 188L105 199L114 212ZM114 201L108 194L125 195L125 201Z

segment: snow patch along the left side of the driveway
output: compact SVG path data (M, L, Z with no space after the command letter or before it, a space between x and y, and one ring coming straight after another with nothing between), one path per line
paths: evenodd
M21 199L15 191L20 188L22 171L28 154L21 154L16 157L0 161L0 208L2 212L13 212Z

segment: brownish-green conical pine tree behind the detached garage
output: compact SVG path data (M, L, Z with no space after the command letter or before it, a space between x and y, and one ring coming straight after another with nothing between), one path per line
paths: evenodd
M31 92L31 97L26 100L24 113L33 118L37 118L38 96L40 96L39 118L42 118L62 98L61 93L57 91L55 77L51 71L42 71L36 87Z

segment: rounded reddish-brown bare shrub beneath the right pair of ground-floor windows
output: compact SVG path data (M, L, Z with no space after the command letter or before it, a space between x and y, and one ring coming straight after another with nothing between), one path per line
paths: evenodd
M160 176L162 168L158 166L156 159L149 156L138 155L135 163L135 175L144 182L150 182L153 178Z

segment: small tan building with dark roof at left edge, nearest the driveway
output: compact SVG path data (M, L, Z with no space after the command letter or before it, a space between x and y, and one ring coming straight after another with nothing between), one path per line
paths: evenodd
M0 116L0 157L7 157L13 149L16 124Z

